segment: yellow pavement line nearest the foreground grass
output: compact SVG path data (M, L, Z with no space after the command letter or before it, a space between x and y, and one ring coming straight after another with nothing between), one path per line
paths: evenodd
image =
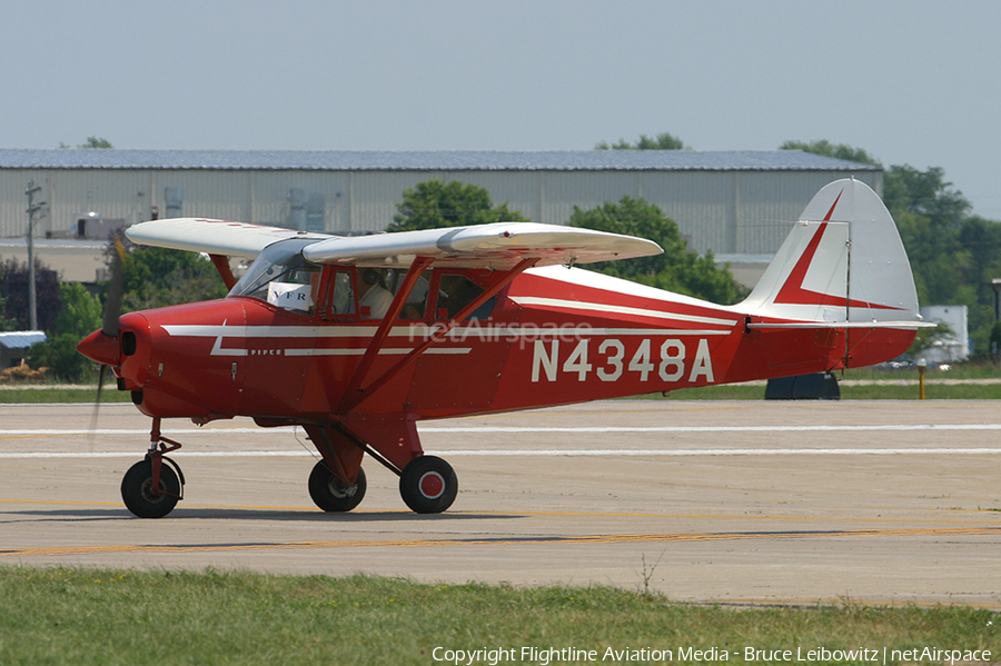
M809 531L725 531L691 534L611 534L554 537L498 537L496 539L390 539L390 540L345 540L345 541L288 541L249 544L197 544L197 545L121 545L121 546L67 546L59 548L6 548L0 557L29 557L46 555L97 555L109 553L226 553L245 550L305 550L317 548L413 548L438 546L543 546L543 545L609 545L647 544L667 541L725 541L744 539L809 539L841 537L958 537L1001 536L998 528L916 528L916 529L845 529Z

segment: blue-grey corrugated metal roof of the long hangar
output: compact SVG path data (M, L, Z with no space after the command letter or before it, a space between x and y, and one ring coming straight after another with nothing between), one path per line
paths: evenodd
M800 150L307 151L0 149L0 169L880 171Z

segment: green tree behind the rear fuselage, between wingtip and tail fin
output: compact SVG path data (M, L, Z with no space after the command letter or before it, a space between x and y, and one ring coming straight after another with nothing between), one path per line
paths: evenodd
M690 250L674 220L643 199L623 197L618 203L606 201L591 210L575 206L567 223L647 238L664 248L664 254L655 257L608 261L588 268L717 304L734 304L747 295L729 269L716 268L712 252L700 257Z

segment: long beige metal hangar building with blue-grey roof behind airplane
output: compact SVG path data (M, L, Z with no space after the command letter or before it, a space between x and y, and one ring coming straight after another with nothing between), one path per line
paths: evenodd
M36 236L107 237L153 218L207 217L328 232L379 231L403 191L430 179L485 187L534 221L643 198L690 247L718 259L771 257L825 183L882 169L796 150L234 151L0 149L0 238L23 237L30 181L47 215ZM10 243L7 243L10 246Z

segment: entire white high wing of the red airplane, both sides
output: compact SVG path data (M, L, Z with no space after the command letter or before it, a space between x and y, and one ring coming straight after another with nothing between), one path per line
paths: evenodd
M278 240L315 238L318 242L303 250L315 264L408 266L416 257L426 257L436 266L499 270L525 259L537 259L535 266L575 265L664 251L642 238L535 222L331 237L226 220L176 218L135 225L126 236L140 245L248 258Z

